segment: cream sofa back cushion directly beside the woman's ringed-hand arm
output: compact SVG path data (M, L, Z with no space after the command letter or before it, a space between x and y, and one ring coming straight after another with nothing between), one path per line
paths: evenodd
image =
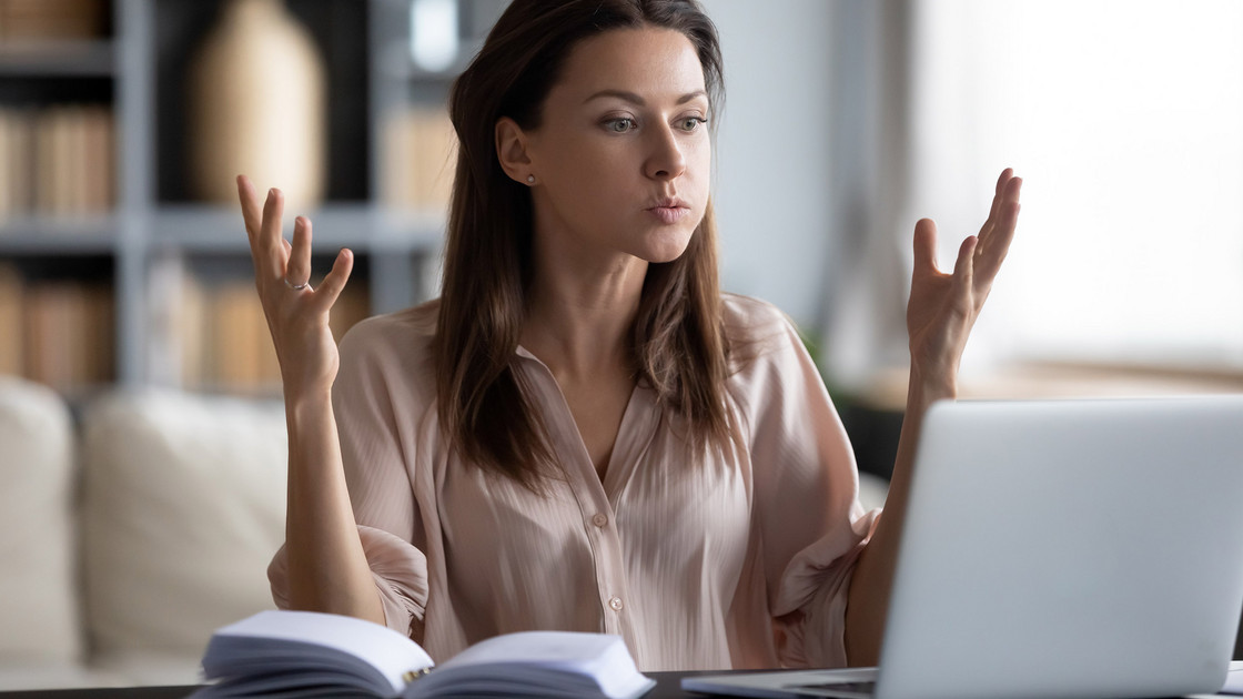
M271 608L285 539L280 404L117 392L83 415L86 613L97 662L198 658L211 632Z

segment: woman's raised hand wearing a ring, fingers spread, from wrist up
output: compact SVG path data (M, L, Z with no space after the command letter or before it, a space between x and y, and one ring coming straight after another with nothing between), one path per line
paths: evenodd
M285 397L331 391L341 359L328 327L328 311L346 287L354 256L342 249L332 271L312 289L311 220L295 219L290 244L281 235L281 190L268 190L267 199L260 201L250 179L237 175L237 197L255 262L255 287L281 363Z

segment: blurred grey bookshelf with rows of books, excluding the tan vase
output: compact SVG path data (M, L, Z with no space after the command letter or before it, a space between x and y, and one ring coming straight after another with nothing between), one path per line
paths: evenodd
M186 73L229 1L0 0L0 373L71 396L278 388L241 215L198 200L186 172ZM82 21L22 35L10 20L44 2ZM411 50L416 4L456 20L454 55L431 70ZM357 259L334 332L435 292L444 101L505 4L283 2L323 57L328 95L326 194L286 224L314 220L314 276L342 246ZM53 122L68 126L41 141ZM40 155L42 142L58 155Z

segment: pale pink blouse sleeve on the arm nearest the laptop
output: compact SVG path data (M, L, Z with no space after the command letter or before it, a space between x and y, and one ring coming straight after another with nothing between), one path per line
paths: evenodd
M859 502L854 453L798 332L784 316L769 327L740 400L778 657L784 667L844 667L850 575L880 511Z

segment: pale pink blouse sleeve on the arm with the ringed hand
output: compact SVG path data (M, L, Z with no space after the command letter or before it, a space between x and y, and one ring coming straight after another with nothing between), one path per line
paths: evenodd
M428 603L428 560L413 542L421 525L405 468L405 454L384 356L369 322L355 326L341 342L341 371L333 384L333 412L341 435L346 483L358 522L363 552L389 628L421 641ZM272 598L288 608L288 567L282 546L267 570Z

